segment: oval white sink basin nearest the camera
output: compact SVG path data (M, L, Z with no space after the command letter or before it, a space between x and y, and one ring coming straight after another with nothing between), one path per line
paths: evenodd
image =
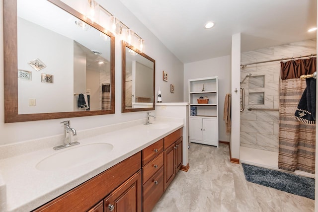
M114 146L110 143L90 143L58 150L36 164L40 171L55 171L79 166L110 152Z

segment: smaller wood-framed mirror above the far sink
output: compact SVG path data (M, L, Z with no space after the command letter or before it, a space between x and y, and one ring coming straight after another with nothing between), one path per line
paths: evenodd
M122 41L122 113L155 110L155 60Z

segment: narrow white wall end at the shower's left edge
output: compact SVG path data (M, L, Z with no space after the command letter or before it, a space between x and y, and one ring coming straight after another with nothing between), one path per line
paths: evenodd
M232 35L231 49L231 156L239 159L240 133L240 33ZM237 92L235 92L237 91Z

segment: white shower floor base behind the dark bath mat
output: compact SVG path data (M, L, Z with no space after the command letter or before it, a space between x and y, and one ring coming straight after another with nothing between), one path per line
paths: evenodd
M257 165L282 171L281 169L278 169L278 152L248 148L245 146L240 146L239 150L240 163L248 163L251 165ZM315 174L307 173L300 170L296 170L295 172L290 173L315 178Z

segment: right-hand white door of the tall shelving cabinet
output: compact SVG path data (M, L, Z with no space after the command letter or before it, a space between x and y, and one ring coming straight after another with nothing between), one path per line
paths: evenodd
M203 119L203 141L217 145L217 119Z

